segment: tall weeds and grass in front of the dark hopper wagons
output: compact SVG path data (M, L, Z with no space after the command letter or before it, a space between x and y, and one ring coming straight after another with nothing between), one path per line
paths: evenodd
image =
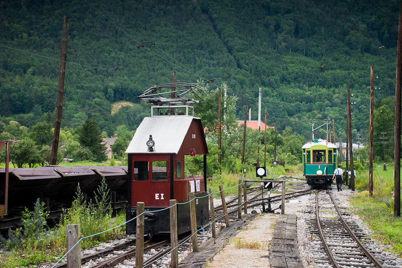
M80 224L81 235L88 236L118 226L125 222L125 212L112 218L109 190L105 177L97 189L95 200L86 202L77 188L76 198L70 209L65 210L56 228L46 225L44 203L36 202L33 212L25 210L22 226L9 230L9 238L0 237L0 267L36 267L43 262L55 262L66 252L66 225ZM93 247L100 242L120 238L125 235L125 225L108 233L92 236L81 241L81 248Z

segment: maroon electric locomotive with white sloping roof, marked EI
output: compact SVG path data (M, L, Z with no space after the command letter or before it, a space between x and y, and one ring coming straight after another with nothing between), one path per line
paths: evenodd
M152 106L151 110L151 117L144 118L126 151L129 160L126 217L127 220L136 217L137 202L144 202L145 234L150 237L170 234L169 209L164 208L169 207L170 199L175 199L178 203L177 231L182 234L191 230L190 192L197 197L197 227L209 222L207 142L201 120L193 117L191 106L160 105ZM204 155L204 177L186 176L184 155L198 154ZM136 232L135 220L126 224L126 232Z

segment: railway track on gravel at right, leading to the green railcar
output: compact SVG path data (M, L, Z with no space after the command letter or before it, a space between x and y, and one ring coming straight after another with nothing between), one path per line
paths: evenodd
M314 249L317 264L325 266L330 262L336 268L397 267L381 251L370 248L373 241L348 216L340 211L331 193L316 191L316 219L306 223L309 232L319 237L313 242L317 246Z

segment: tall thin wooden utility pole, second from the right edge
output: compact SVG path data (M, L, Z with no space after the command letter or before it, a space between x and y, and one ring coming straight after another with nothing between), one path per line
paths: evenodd
M369 196L373 196L373 161L374 161L374 149L373 149L373 122L374 122L374 65L371 65L370 75L370 120L369 120L369 147L368 147L368 193Z

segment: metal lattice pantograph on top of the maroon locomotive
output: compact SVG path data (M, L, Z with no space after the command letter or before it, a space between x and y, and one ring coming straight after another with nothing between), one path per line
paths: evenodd
M178 89L176 89L178 87ZM173 91L166 91L163 92L165 88L174 88ZM138 99L141 101L147 102L147 103L153 103L156 105L163 105L163 104L193 104L193 103L199 103L199 101L202 100L201 97L199 97L194 91L193 88L198 88L199 90L202 90L205 93L205 88L202 86L199 86L194 83L168 83L168 84L160 84L160 85L154 85L148 90L146 90L143 94L138 96ZM159 91L159 93L158 93ZM177 94L177 98L166 98L164 96L171 96L171 94ZM184 96L186 94L193 94L199 100L194 100L194 99L189 99L185 98ZM170 97L169 96L169 97Z

